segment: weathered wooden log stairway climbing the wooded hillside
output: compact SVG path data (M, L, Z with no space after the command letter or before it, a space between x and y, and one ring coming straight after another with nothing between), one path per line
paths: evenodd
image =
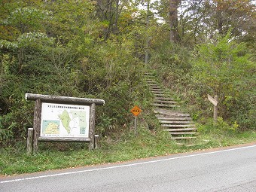
M197 128L190 114L179 111L180 105L171 98L155 81L154 75L145 73L145 78L151 93L154 94L154 114L160 121L164 130L168 131L172 139L194 139L197 136Z

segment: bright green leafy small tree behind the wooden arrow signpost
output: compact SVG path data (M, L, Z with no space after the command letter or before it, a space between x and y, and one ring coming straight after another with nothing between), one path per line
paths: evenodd
M236 43L229 32L215 43L200 44L194 57L194 81L201 90L218 96L222 117L239 110L236 103L253 79L254 63L245 50L245 44Z

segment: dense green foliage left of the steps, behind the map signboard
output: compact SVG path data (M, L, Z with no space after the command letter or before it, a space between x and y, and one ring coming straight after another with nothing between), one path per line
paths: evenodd
M25 93L105 99L97 110L102 134L123 127L134 102L147 97L139 84L142 62L133 56L138 42L130 30L106 38L108 23L95 11L88 1L2 2L2 144L24 139L32 126L34 103Z

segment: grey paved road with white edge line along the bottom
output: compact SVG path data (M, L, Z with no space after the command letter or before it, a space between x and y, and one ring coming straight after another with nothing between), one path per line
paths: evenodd
M256 144L0 178L0 191L256 191Z

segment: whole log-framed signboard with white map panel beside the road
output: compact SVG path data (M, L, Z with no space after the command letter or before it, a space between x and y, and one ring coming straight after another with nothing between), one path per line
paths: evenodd
M95 110L104 100L32 93L25 98L35 100L34 152L38 142L90 142L89 148L95 148Z

